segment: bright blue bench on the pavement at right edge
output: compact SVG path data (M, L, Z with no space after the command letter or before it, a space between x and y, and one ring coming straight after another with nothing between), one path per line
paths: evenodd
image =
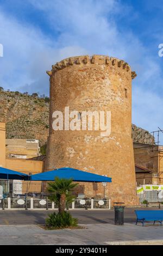
M136 210L135 211L137 220L136 220L136 225L137 222L141 222L142 225L144 225L145 221L154 221L155 222L160 222L162 225L163 221L163 211L162 210Z

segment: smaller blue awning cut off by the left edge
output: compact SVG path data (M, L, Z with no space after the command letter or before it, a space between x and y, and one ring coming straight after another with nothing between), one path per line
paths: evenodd
M7 168L0 167L0 179L6 180L28 180L29 176L24 173L15 172Z

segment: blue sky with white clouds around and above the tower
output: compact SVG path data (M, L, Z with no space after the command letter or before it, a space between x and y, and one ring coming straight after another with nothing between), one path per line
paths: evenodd
M133 123L163 129L162 13L161 0L0 0L0 85L48 95L45 71L62 58L122 58L137 73Z

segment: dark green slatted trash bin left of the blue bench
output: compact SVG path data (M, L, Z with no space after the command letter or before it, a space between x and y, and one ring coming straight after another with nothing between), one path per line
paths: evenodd
M114 203L114 212L115 212L115 225L124 224L124 203L115 202Z

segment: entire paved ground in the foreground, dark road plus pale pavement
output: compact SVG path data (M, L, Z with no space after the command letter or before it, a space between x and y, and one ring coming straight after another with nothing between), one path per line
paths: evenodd
M114 225L113 210L71 211L85 227L73 230L42 229L49 211L0 211L0 245L163 245L163 227L135 225L134 210L126 208L123 226Z

